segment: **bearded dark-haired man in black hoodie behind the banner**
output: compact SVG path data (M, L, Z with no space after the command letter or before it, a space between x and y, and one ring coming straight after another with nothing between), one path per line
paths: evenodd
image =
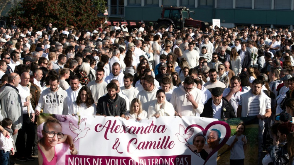
M99 98L97 103L97 114L103 116L125 117L127 111L126 101L120 97L118 86L114 82L110 82L106 86L107 93Z

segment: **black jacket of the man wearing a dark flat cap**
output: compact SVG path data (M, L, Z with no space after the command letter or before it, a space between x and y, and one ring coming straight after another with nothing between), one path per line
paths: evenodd
M222 115L221 119L225 118L236 118L235 111L231 103L229 103L225 98L222 98ZM224 108L226 111L224 111ZM204 104L203 112L200 115L201 117L213 118L213 109L212 109L212 98L208 99L208 101Z

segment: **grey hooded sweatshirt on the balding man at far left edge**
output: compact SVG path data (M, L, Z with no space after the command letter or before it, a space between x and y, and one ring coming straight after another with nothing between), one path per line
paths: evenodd
M10 84L0 89L1 116L0 120L9 118L14 129L20 129L23 119L23 108L18 90Z

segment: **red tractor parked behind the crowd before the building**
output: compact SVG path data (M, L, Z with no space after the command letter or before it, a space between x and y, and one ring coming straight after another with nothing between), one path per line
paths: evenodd
M200 27L201 30L205 30L208 23L190 18L190 11L186 7L162 7L161 18L155 25L157 29L173 25L178 30L182 30L183 27Z

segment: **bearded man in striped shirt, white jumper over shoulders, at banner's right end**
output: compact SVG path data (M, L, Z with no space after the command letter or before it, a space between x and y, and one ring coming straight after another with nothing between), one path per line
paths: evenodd
M263 120L271 115L271 99L262 91L262 80L255 79L252 85L252 89L240 96L237 117L256 116L259 119L258 156L260 156L264 132Z

